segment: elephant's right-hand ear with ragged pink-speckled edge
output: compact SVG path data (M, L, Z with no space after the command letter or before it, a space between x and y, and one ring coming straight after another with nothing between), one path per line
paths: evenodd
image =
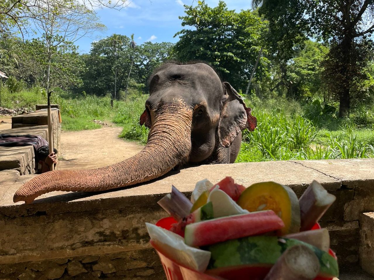
M251 115L251 108L247 108L242 97L227 82L223 84L222 109L218 124L218 137L224 147L230 147L241 130L248 128L253 131L257 119Z

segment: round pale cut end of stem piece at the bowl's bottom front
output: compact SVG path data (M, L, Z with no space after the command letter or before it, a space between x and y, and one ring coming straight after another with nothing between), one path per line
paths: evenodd
M320 270L314 251L304 245L288 248L264 280L312 280Z

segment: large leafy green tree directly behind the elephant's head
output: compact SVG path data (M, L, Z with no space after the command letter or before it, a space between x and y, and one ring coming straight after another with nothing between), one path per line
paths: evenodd
M262 34L267 29L267 23L249 10L239 13L228 10L223 1L214 8L204 1L197 7L185 7L186 16L180 17L182 26L192 28L182 29L175 34L180 35L175 45L177 58L184 62L208 62L224 80L237 89L245 90L263 47ZM266 75L266 63L267 59L261 57L257 77Z

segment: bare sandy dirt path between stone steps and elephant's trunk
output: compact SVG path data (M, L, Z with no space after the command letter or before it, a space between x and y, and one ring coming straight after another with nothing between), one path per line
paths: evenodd
M143 146L119 139L121 131L122 128L116 126L62 131L58 169L104 167L138 153Z

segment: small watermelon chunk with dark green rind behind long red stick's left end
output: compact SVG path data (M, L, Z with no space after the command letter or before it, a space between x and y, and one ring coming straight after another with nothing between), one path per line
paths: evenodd
M213 204L212 202L206 203L200 208L196 209L187 217L179 220L177 223L172 225L171 231L184 237L184 230L186 225L197 223L204 220L210 220L214 218L213 215Z

